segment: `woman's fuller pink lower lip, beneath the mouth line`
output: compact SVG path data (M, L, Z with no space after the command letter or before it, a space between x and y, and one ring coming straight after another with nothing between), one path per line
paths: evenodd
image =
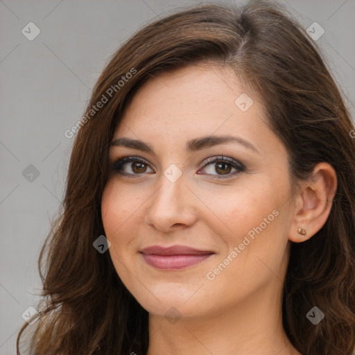
M161 270L180 270L202 263L213 254L204 255L155 255L142 254L146 263Z

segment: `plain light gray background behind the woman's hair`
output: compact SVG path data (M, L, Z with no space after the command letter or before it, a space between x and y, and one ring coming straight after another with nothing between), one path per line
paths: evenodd
M305 28L314 21L324 28L317 42L354 117L355 0L280 2ZM193 3L0 0L0 354L15 354L21 314L39 300L37 259L60 207L73 144L65 130L82 117L96 78L123 40ZM21 33L31 21L40 28L33 41ZM40 172L32 182L22 174L29 164Z

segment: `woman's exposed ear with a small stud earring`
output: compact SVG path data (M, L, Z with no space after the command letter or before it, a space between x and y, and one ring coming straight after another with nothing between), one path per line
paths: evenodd
M295 196L293 223L288 234L290 241L306 241L323 227L329 217L336 188L333 166L324 162L317 164L311 178L302 184ZM297 232L299 228L304 230L304 235Z

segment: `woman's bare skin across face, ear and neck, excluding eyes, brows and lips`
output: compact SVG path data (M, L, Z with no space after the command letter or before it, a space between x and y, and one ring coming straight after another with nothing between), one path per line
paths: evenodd
M148 355L300 354L282 327L289 248L291 241L305 241L324 225L336 174L320 163L313 178L293 193L286 148L263 121L255 94L247 92L254 103L245 112L234 104L243 92L230 69L213 65L162 73L139 89L114 132L112 140L141 139L155 150L112 146L111 162L139 156L146 165L125 164L123 171L134 178L112 169L102 198L116 272L149 312ZM235 143L186 152L187 141L212 134L242 137L259 153ZM230 177L224 178L218 163L202 164L221 155L243 163L246 171L232 175L235 169L227 165ZM171 164L182 171L175 182L164 175ZM240 254L208 279L207 272L275 210L278 215L254 240L249 238ZM297 233L298 227L306 236ZM177 244L215 254L189 268L166 271L149 266L139 253L150 245ZM168 319L167 311L175 317Z

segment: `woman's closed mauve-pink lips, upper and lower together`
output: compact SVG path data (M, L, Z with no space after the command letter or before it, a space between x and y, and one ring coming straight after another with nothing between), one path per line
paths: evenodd
M173 245L164 248L160 245L152 245L140 251L142 257L148 263L160 270L180 270L189 266L202 263L214 252L211 250L199 250L185 245Z

